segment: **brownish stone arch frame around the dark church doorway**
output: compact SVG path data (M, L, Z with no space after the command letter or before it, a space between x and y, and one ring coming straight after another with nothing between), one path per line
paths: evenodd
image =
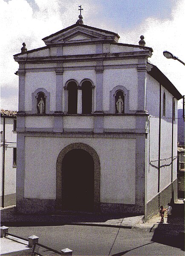
M66 153L72 149L87 151L94 161L94 212L100 211L100 159L96 151L84 143L72 143L64 147L58 155L56 165L56 207L62 209L62 162ZM70 189L70 184L69 184Z

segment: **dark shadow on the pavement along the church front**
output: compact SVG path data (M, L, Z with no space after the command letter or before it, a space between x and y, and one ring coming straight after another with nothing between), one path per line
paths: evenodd
M132 215L138 216L138 215ZM119 227L122 218L132 217L130 214L102 214L90 212L61 212L49 214L17 214L15 207L1 209L1 226L28 227L28 226L58 226L58 225L93 225L98 223L104 226ZM115 225L106 221L115 220ZM123 226L124 227L124 226ZM126 227L130 228L130 227Z

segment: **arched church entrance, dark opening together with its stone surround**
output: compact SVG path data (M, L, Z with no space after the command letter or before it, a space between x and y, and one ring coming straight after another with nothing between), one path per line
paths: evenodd
M57 208L99 212L100 161L92 147L69 144L58 155L56 171Z

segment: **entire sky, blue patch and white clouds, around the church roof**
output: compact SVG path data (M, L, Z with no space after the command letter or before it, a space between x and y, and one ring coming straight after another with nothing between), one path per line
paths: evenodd
M1 109L18 110L13 55L23 42L28 50L43 47L42 38L75 24L79 5L85 25L118 33L119 43L138 45L144 35L153 49L148 60L185 95L185 66L163 56L168 50L185 62L185 0L0 0Z

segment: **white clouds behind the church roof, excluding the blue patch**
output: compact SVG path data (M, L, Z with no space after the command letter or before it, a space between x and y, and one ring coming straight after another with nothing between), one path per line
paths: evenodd
M107 18L98 15L103 8L98 1L81 0L80 4L84 9L84 24L118 33L119 42L138 44L140 35L144 35L146 45L154 50L150 61L173 82L181 94L185 94L183 91L185 67L177 61L165 59L162 55L164 50L169 50L185 61L183 51L185 41L182 38L182 26L185 24L184 0L175 1L171 19L149 17L131 30L124 29L121 24L113 24ZM6 88L6 94L9 91L11 95L11 88L18 88L18 77L14 74L18 69L18 64L14 62L13 55L20 53L22 43L26 43L28 50L43 47L45 44L42 38L75 24L78 19L78 5L78 0L35 0L33 5L26 0L9 0L8 2L0 0L1 36L3 38L0 41L2 49L0 51L1 87ZM18 98L18 95L16 97ZM6 105L14 102L14 109L17 109L18 99L16 101L16 97L13 100L10 96L12 101L9 100ZM3 97L2 107L6 101L7 97Z

